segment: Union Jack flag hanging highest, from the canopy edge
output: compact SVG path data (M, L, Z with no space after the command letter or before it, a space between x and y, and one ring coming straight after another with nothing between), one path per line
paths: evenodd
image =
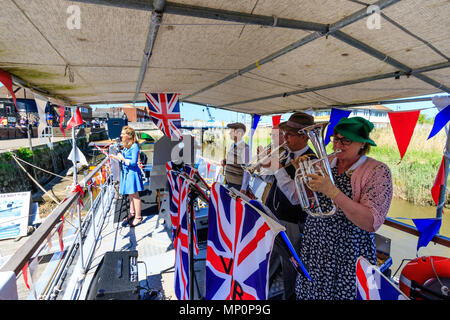
M178 93L145 94L153 123L169 138L181 138Z

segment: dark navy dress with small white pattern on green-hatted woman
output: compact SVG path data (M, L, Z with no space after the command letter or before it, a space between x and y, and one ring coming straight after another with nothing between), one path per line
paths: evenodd
M336 186L352 198L350 176L337 174L332 169ZM331 200L322 198L325 210L331 209ZM376 265L374 234L360 229L347 219L341 209L328 218L308 216L300 259L311 276L297 276L296 296L299 300L347 300L355 299L356 260L363 256Z

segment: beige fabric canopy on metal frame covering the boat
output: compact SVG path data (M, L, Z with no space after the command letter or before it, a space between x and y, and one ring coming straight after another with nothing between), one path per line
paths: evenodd
M450 91L446 0L0 6L0 69L65 104L173 92L181 101L274 114Z

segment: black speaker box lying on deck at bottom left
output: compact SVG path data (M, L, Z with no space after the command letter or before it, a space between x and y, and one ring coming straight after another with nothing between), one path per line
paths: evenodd
M105 253L91 282L87 300L139 300L137 251Z

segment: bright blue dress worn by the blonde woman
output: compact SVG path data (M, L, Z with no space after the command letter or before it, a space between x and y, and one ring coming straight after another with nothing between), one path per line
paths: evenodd
M138 167L139 146L133 143L130 149L123 148L122 155L126 160L130 160L127 165L122 162L122 172L120 173L120 194L133 194L144 190L141 169ZM127 161L128 162L128 161Z

